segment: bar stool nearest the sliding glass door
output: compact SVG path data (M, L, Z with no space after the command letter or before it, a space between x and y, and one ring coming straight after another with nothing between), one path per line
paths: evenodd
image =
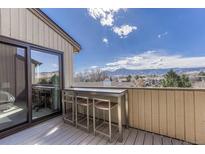
M63 120L75 124L75 95L73 91L62 91ZM69 105L71 107L69 107Z

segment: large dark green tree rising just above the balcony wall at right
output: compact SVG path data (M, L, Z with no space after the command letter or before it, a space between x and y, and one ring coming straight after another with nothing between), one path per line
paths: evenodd
M191 82L185 75L179 76L174 70L170 70L162 80L163 87L191 87Z

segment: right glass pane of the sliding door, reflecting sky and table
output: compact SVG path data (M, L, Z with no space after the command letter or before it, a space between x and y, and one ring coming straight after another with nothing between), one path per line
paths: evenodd
M33 120L60 111L60 56L31 50Z

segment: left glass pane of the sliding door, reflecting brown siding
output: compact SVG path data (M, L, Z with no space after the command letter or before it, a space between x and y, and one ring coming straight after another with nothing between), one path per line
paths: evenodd
M0 43L0 132L28 122L26 49Z

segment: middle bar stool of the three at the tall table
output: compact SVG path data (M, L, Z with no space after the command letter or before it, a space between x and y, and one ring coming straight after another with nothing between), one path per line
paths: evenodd
M89 132L90 130L90 123L89 123L89 120L90 120L90 111L89 111L89 108L90 106L92 105L92 101L88 98L88 97L85 97L85 96L76 96L75 97L75 114L76 114L76 127L80 126L82 128L85 128L87 129L87 131ZM86 119L87 121L87 124L84 125L84 124L81 124L78 122L78 106L81 106L83 107L84 109L86 109L86 113L84 112L84 114L86 114L86 117L81 119L81 121L84 121Z

